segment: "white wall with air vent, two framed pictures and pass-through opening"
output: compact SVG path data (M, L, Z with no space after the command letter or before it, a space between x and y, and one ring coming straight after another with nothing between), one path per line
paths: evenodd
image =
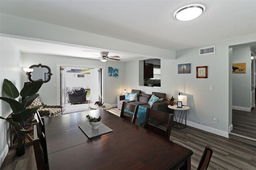
M200 128L221 136L228 137L229 114L232 114L230 91L232 81L229 80L229 45L254 42L256 36L246 36L225 42L218 42L201 47L176 51L176 60L161 59L161 88L138 86L139 61L126 63L126 82L128 92L139 89L145 93L152 91L166 93L167 97L178 97L178 92L188 96L190 110L188 116L203 123L212 122L217 118L218 124L203 124L202 126L188 119L188 125ZM216 45L216 53L198 55L198 49ZM190 74L178 74L178 64L191 63ZM196 79L196 66L208 66L208 78ZM213 90L209 90L213 85ZM230 87L231 85L231 87ZM232 94L231 94L232 96Z

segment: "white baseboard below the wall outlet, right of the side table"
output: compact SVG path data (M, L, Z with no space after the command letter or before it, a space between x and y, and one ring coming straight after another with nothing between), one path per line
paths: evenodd
M179 120L180 119L177 118L177 121L179 121ZM219 136L223 136L225 138L228 138L228 132L226 132L224 130L219 130L219 129L216 129L216 128L208 127L208 126L201 125L201 124L198 124L198 123L194 123L194 122L191 122L191 121L188 121L188 120L187 120L187 125L190 126L190 127L198 128L200 130L204 130L206 132L210 132L210 133L217 134Z

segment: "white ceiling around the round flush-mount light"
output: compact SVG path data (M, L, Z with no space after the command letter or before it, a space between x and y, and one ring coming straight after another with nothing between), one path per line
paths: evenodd
M256 34L256 1L1 0L2 13L173 51ZM204 13L178 21L191 4Z

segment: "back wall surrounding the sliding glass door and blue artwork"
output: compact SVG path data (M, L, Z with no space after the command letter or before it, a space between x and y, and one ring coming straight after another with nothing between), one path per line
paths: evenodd
M49 105L56 105L57 103L57 87L54 84L58 84L57 76L57 64L63 64L67 66L77 65L78 67L105 67L105 102L110 104L117 103L117 95L124 93L125 89L125 63L118 61L107 61L105 63L96 59L83 59L76 57L66 57L57 55L45 55L45 54L33 54L33 53L22 53L22 65L24 67L30 67L30 65L47 65L51 69L51 79L49 82L44 83L39 90L40 97L42 100ZM119 69L119 77L109 77L108 67L115 67ZM22 81L26 81L26 74L22 74Z

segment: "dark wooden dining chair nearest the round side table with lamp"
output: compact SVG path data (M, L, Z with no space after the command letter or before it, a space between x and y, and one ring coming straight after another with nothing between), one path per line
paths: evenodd
M150 124L148 122L149 118L155 119L162 123L166 123L167 124L166 130ZM156 110L147 108L144 128L170 140L170 135L171 135L171 130L172 130L172 121L173 121L173 114L168 114L168 113L164 113L161 111L156 111Z

